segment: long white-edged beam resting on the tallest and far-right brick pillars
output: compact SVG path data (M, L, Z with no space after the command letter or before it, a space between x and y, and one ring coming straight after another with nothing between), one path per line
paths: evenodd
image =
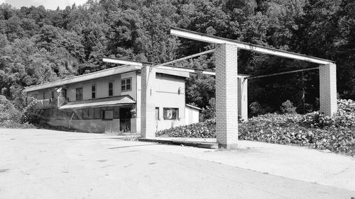
M301 55L301 54L298 54L295 52L278 50L275 48L264 47L261 45L253 45L251 43L240 42L237 40L229 40L226 38L219 38L214 35L197 33L197 32L191 31L191 30L185 30L185 29L181 29L181 28L173 28L173 27L170 28L170 35L175 35L175 36L178 36L181 38L187 38L187 39L191 39L191 40L198 40L198 41L202 41L202 42L209 42L209 43L215 43L215 44L226 43L226 44L236 45L240 49L244 49L244 50L251 50L251 51L255 51L255 52L261 52L261 53L265 53L268 55L276 55L279 57L286 57L286 58L290 58L290 59L298 59L298 60L302 60L302 61L306 61L306 62L313 62L313 63L317 63L317 64L333 64L334 63L334 61L327 60L327 59L321 59L318 57Z

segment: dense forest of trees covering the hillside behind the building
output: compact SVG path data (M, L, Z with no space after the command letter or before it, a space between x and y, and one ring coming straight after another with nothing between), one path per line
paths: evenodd
M171 26L334 60L338 97L355 99L354 0L88 0L63 10L1 4L0 94L21 110L25 86L115 67L104 56L162 63L213 47L173 37ZM179 65L213 71L214 57ZM316 66L239 52L239 73L251 76ZM214 77L192 75L186 93L188 103L208 106ZM251 114L278 111L286 100L299 113L317 110L318 98L317 70L249 81Z

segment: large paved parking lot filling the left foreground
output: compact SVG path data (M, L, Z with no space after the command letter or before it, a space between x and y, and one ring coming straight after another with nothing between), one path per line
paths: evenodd
M346 188L223 164L232 152L112 135L0 129L0 152L0 198L6 199L355 196Z

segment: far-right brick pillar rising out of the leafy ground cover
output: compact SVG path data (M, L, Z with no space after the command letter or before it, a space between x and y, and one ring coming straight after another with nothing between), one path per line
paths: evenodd
M320 66L320 113L337 113L337 65Z

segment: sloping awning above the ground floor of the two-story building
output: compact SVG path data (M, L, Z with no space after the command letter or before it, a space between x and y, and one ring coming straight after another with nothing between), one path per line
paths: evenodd
M131 96L116 96L109 98L99 98L87 101L73 101L61 106L59 109L67 108L86 108L102 106L123 106L136 103Z

